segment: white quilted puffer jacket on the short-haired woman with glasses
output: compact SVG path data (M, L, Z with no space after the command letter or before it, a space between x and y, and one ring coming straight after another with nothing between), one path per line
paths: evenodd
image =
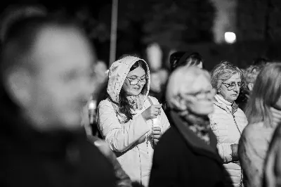
M240 186L242 171L239 162L233 162L230 145L239 143L241 133L247 125L247 117L235 103L232 105L217 94L210 122L211 129L218 139L218 153L223 158L223 165L226 167L233 185Z

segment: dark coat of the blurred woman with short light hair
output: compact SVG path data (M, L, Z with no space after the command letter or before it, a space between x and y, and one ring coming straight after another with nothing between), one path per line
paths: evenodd
M216 136L209 130L210 146L185 128L181 118L170 112L171 128L155 148L150 187L224 186L226 170L216 150Z

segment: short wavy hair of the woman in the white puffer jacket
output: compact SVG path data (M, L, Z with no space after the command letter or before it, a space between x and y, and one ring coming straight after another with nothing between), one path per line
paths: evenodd
M211 86L219 90L221 89L221 84L235 74L239 74L242 79L242 71L237 66L228 61L222 61L211 70Z

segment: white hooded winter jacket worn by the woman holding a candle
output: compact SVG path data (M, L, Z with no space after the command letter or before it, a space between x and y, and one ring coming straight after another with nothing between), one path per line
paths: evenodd
M159 125L163 134L170 124L162 109L161 115L154 120L145 121L141 115L144 110L150 107L150 101L155 105L159 104L156 98L148 96L149 71L147 72L148 85L144 87L147 91L143 108L134 111L133 120L129 120L129 122L125 120L124 114L119 112L119 92L131 66L138 60L142 59L126 57L116 61L110 67L107 85L107 93L110 98L101 101L98 105L98 129L105 141L110 144L110 148L117 153L117 160L130 176L131 181L138 181L146 187L149 182L154 149L150 137L152 125ZM145 137L145 139L140 142L141 137Z

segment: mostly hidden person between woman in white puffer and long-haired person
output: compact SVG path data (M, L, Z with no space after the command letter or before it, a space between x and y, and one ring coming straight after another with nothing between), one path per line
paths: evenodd
M263 65L250 65L243 71L244 84L240 88L240 94L236 100L239 108L241 108L243 111L249 100L249 95L253 90L256 77L259 75L259 72L261 72L262 68Z

